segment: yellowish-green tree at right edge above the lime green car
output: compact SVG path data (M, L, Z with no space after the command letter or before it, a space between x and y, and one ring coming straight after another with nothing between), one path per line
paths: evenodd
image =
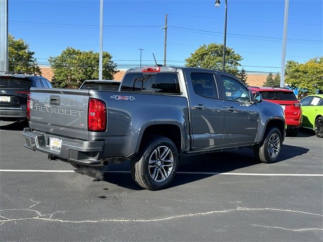
M288 61L285 82L292 88L307 89L315 94L323 90L323 56L310 59L304 64Z

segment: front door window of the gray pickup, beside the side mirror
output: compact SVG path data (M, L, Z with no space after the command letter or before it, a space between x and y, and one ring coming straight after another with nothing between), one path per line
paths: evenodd
M238 102L250 102L250 92L237 80L221 76L226 93L226 99Z

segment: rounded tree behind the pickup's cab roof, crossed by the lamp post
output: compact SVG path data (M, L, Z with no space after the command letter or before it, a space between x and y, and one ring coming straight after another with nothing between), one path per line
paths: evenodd
M186 67L205 68L222 71L223 44L210 43L201 45L191 56L185 59ZM242 57L233 48L226 47L225 71L232 75L238 74L238 66Z

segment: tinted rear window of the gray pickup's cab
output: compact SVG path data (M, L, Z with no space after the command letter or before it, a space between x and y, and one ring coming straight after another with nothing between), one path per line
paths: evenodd
M176 73L129 73L122 82L121 91L179 94L180 86Z

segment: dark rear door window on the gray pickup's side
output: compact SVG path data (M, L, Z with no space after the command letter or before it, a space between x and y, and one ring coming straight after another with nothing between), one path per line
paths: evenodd
M191 73L194 92L203 97L219 98L216 80L213 74Z

